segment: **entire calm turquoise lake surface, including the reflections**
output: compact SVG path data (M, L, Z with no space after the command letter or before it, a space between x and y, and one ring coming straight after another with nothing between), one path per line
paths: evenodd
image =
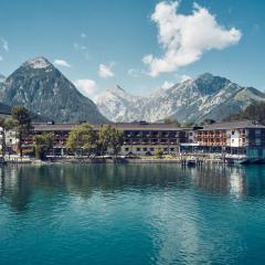
M265 264L265 167L0 169L0 264Z

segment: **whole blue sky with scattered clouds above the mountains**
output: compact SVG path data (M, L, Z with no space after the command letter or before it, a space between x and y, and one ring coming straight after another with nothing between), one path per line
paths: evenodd
M265 1L195 2L1 0L0 73L43 55L92 97L115 84L148 94L204 72L264 91Z

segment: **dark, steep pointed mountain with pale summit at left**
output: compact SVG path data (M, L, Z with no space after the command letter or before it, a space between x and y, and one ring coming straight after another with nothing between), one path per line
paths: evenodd
M0 96L4 104L23 105L55 121L107 121L97 106L44 57L26 61L7 77Z

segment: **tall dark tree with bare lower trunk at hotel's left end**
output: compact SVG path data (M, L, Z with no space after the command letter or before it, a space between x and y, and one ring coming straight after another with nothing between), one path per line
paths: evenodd
M23 106L14 106L12 108L11 114L12 114L13 120L15 120L17 123L15 127L17 127L17 134L19 138L18 148L20 152L20 158L22 158L23 137L28 136L32 130L31 117L30 117L29 110Z

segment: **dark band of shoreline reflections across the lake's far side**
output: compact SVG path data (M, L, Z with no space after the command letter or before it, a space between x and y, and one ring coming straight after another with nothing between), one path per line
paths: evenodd
M52 165L0 169L0 198L17 210L25 210L31 197L70 193L83 199L93 192L158 192L197 190L232 195L263 195L265 167L181 168L177 165ZM60 203L61 197L54 200Z

